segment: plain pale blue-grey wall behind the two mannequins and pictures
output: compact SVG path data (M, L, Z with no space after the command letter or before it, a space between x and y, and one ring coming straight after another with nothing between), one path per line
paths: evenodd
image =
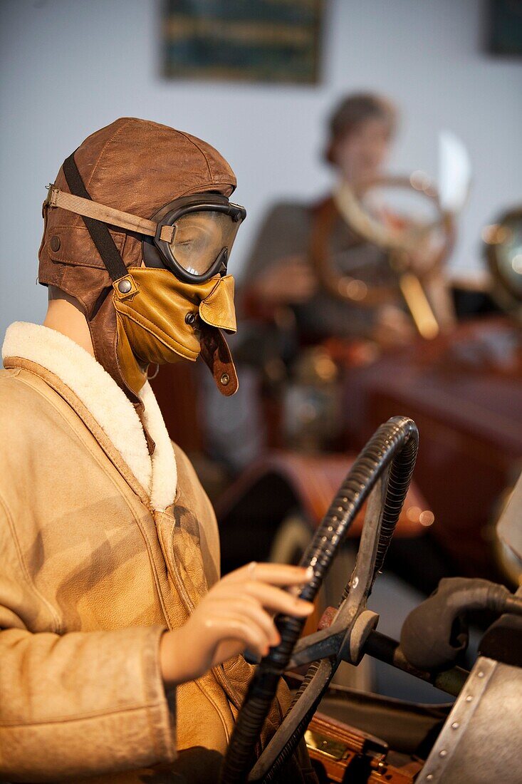
M323 82L288 88L165 81L155 0L2 0L0 334L45 311L34 285L45 184L85 136L122 115L188 130L230 160L248 209L238 270L271 199L327 186L318 154L332 102L379 90L404 115L393 170L434 174L440 128L468 145L473 194L452 263L477 267L480 227L522 201L522 65L483 53L484 11L479 0L332 0Z

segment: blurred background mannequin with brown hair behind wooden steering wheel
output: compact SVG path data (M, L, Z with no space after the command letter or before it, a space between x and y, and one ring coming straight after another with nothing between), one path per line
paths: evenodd
M391 103L372 94L348 96L335 108L325 158L335 169L336 187L347 183L357 191L383 176L396 125ZM321 204L284 203L270 210L245 271L245 314L270 318L277 308L288 306L295 313L299 333L312 339L339 336L374 339L383 345L408 342L415 331L398 290L396 304L367 307L339 301L318 287L310 264L310 238ZM329 249L343 274L368 287L397 288L385 254L358 237L340 216Z

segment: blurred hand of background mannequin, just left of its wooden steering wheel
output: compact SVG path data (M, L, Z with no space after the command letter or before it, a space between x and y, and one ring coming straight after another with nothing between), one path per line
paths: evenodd
M306 302L317 289L317 280L310 264L302 256L288 256L277 266L266 270L251 290L270 306L296 305Z

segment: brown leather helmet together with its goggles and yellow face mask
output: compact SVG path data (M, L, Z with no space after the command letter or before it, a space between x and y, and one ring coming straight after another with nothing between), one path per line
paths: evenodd
M235 186L207 143L136 118L89 136L49 186L38 279L78 299L96 359L136 404L150 362L200 353L237 390L222 332L236 329Z

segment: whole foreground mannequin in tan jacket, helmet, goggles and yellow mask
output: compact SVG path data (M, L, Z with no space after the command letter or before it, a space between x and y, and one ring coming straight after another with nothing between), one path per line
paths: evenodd
M10 325L2 347L0 779L210 784L252 674L241 654L277 644L275 613L312 612L293 593L303 569L252 563L219 579L212 506L147 382L149 351L195 360L201 334L230 394L225 251L245 210L216 150L136 118L89 136L56 183L45 321ZM99 211L92 234L85 204ZM163 266L161 243L144 252L164 205L220 227L218 245L197 243L205 259L186 238L186 259L175 243ZM171 241L178 217L161 216ZM201 280L180 259L200 262ZM260 747L288 702L281 688ZM288 781L314 782L309 765L301 750Z

